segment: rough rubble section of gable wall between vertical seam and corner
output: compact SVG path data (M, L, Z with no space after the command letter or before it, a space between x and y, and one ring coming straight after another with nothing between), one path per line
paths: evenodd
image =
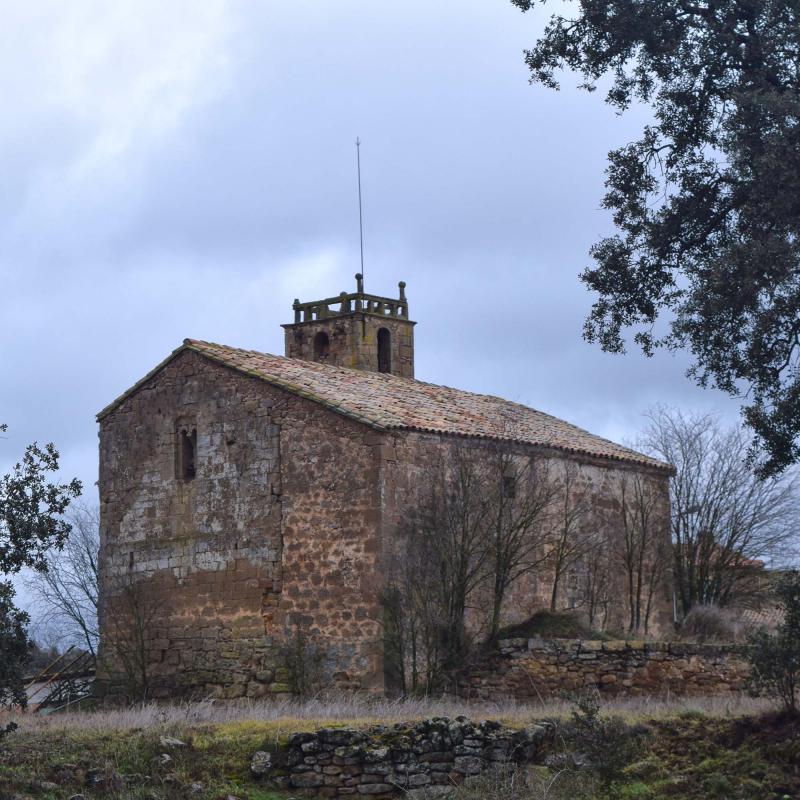
M283 585L274 635L302 630L342 688L383 689L379 472L383 438L292 398L281 423Z

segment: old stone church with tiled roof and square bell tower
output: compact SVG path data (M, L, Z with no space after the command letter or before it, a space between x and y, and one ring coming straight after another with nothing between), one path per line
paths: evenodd
M285 356L186 339L98 414L106 692L121 659L146 671L152 697L283 693L274 650L289 629L324 643L339 685L383 691L388 554L426 464L454 442L478 457L503 440L521 457L578 464L599 510L618 504L621 478L643 476L667 540L669 465L534 409L415 380L405 284L387 298L356 279L355 292L295 300ZM126 598L127 653L115 613ZM665 585L653 598L657 627L669 619ZM547 604L522 582L505 621ZM112 649L116 661L104 660Z

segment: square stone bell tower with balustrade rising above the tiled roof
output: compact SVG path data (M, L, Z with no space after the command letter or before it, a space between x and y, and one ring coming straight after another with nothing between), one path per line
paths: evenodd
M414 325L408 318L406 284L399 298L364 293L356 274L356 291L338 297L294 301L294 322L283 325L286 356L339 367L414 377Z

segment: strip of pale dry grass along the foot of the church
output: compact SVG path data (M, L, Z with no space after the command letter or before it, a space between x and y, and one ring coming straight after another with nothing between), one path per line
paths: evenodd
M305 730L325 725L367 726L413 721L427 717L495 719L511 727L547 717L564 717L573 709L570 700L539 704L469 703L448 699L384 700L368 697L328 697L305 702L198 701L175 705L155 703L126 709L67 711L58 714L14 714L20 732L45 733L59 730L86 732L142 730L154 727L179 729L204 724L271 723L283 730ZM639 697L609 700L603 711L629 722L664 719L685 713L711 717L759 714L773 707L770 701L744 694L689 698ZM0 724L4 717L0 715Z

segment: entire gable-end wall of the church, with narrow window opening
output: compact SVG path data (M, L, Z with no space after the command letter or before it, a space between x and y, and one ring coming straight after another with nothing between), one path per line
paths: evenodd
M191 480L180 427L197 431ZM121 690L114 623L135 594L151 696L286 692L276 646L298 627L330 675L374 688L377 452L308 400L194 353L168 363L101 421L99 685Z

